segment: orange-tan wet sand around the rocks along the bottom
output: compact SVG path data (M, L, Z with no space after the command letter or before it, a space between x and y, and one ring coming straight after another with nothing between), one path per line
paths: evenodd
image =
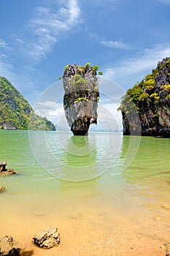
M170 210L155 207L155 214L143 208L130 209L125 215L110 208L63 206L61 211L36 211L33 215L12 211L3 217L0 237L11 235L23 247L22 256L165 256L170 241ZM34 233L57 226L61 242L42 249L32 242Z

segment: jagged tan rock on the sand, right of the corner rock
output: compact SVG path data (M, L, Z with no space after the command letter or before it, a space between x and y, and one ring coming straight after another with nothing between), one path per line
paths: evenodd
M47 227L45 230L39 230L34 236L34 244L50 249L60 241L58 227Z

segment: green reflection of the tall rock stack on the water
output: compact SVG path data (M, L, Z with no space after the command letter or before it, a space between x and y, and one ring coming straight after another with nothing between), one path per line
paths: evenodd
M96 143L87 136L72 136L68 139L61 157L61 174L67 181L85 181L98 176Z

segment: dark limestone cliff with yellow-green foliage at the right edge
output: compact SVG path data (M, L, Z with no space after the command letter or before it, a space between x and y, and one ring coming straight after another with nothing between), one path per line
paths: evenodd
M139 116L137 124L134 108ZM123 134L141 129L142 135L170 137L170 58L158 62L152 74L128 89L120 105Z

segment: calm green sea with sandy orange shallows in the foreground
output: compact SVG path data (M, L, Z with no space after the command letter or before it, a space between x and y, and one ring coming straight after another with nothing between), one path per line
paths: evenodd
M85 237L126 228L151 236L159 226L168 236L169 139L1 130L0 142L0 161L19 173L0 176L0 236L27 239L48 225L81 226Z

